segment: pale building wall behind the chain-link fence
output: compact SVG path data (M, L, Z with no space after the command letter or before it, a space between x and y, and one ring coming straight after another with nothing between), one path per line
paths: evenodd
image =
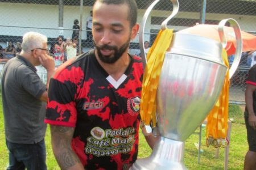
M91 6L84 6L82 11L82 21L80 21L80 7L79 6L64 6L64 29L72 29L73 20L79 19L82 22L82 39L86 39L86 18L89 16ZM146 10L138 11L138 23L141 23L142 17ZM168 16L171 11L158 11L152 10L150 16ZM36 5L25 3L4 3L0 2L0 36L22 36L27 31L37 31L47 35L48 37L57 37L60 30L59 27L59 6L58 5ZM145 29L144 40L150 40L150 30L160 29L160 25L151 25L150 16L148 17ZM192 18L199 19L200 14L198 12L178 12L176 18ZM226 14L207 14L206 19L221 20L224 18L230 18L230 15ZM247 15L232 15L232 18L236 19L240 24L241 29L245 31L256 31L256 16ZM8 26L8 27L6 27ZM27 28L29 27L29 28ZM183 29L185 27L168 25L168 28L174 28L176 30ZM63 31L64 38L71 37L72 30ZM138 42L135 39L133 42ZM5 46L6 42L0 42Z

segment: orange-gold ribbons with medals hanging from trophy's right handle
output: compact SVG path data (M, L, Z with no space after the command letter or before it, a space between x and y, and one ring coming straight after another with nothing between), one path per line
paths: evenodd
M225 147L228 145L226 134L228 131L228 109L229 109L229 62L226 50L222 50L222 59L228 67L224 85L216 104L207 117L207 146ZM214 142L212 142L214 141ZM218 141L218 142L217 142ZM219 145L216 144L219 143ZM221 145L220 145L221 144Z

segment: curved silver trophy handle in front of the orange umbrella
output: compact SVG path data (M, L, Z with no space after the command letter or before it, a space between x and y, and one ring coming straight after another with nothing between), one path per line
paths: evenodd
M234 33L236 35L236 55L234 57L234 61L232 63L232 66L229 69L229 79L232 78L233 74L235 73L240 59L241 59L241 54L242 54L242 37L241 37L241 31L240 31L240 26L239 24L236 22L236 20L229 18L229 19L224 19L221 20L221 22L218 24L218 34L220 36L220 40L222 43L223 48L226 47L226 36L224 34L224 27L225 24L229 22L230 25L234 28Z

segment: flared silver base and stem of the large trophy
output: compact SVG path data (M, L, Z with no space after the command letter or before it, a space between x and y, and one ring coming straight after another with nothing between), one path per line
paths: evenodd
M160 137L148 158L138 159L130 170L187 169L183 164L184 142Z

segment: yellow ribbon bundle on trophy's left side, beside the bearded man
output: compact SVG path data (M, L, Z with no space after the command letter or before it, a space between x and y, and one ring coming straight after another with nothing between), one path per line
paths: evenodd
M156 91L164 55L170 46L172 35L173 29L160 30L147 54L141 95L141 119L145 125L150 125L151 120L153 127L156 124Z

